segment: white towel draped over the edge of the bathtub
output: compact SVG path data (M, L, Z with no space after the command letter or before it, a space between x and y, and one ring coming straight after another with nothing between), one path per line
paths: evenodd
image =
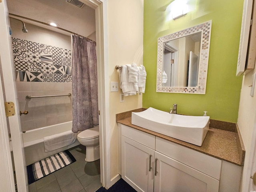
M44 151L52 151L67 145L70 145L76 141L76 133L71 130L44 137Z

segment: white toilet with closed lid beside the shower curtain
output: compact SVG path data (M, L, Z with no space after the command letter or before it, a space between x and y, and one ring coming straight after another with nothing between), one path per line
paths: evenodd
M100 158L99 126L80 132L77 140L86 146L85 161L92 162Z

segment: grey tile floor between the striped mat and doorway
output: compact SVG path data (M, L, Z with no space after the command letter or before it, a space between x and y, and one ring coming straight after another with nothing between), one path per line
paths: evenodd
M78 145L70 153L76 162L29 185L29 192L95 192L100 183L100 160L86 162L85 147Z

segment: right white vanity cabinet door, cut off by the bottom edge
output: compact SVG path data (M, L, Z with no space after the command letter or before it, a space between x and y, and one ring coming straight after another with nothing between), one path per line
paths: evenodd
M154 192L218 192L219 181L155 152Z

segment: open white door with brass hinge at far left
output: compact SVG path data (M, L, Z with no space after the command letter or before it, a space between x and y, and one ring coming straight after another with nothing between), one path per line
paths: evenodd
M17 178L18 191L26 192L28 191L28 182L23 150L22 131L20 129L20 114L16 96L14 64L12 59L12 44L11 36L9 33L10 23L8 18L9 16L6 0L2 0L2 2L0 2L0 57L3 70L3 81L6 101L14 102L16 112L14 116L8 118L8 122L10 125L10 132L12 135L12 149L14 155L14 166Z

